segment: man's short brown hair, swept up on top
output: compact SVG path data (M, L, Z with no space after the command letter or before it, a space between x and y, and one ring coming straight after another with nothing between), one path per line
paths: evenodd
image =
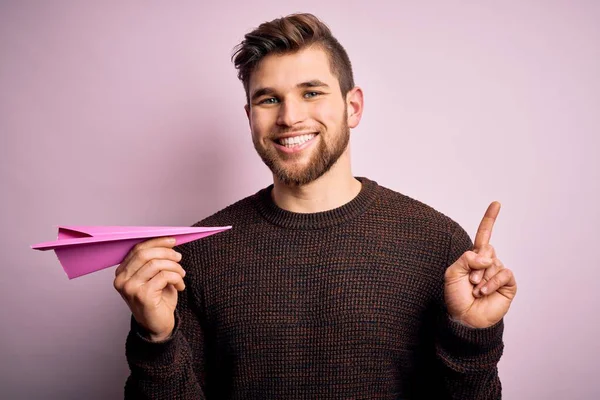
M329 56L331 72L338 79L342 96L354 87L352 64L346 50L331 30L312 14L291 14L264 22L244 36L231 57L244 85L250 104L250 77L260 61L269 54L287 54L319 46Z

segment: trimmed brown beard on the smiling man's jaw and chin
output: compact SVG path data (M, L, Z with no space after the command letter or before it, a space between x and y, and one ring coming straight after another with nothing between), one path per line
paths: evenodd
M254 135L252 135L252 142L260 158L262 158L263 162L281 183L287 186L306 185L329 171L342 154L344 154L344 151L346 151L350 142L350 128L348 127L347 116L348 110L345 108L342 126L338 132L334 132L331 135L332 142L330 144L327 143L322 131L319 130L318 136L320 138L318 147L313 150L308 163L302 166L286 165L284 162L297 158L297 154L285 154L283 156L285 157L284 159L275 147L262 146Z

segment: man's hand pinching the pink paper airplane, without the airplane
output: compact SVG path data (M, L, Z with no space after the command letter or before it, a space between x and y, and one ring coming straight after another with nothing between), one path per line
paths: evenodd
M115 271L115 289L150 340L167 339L175 327L177 291L185 289L175 239L158 238L135 246Z

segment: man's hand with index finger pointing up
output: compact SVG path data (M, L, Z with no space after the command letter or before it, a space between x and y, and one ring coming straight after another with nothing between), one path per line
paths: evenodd
M473 250L465 252L446 270L444 298L450 317L472 328L487 328L508 312L517 282L490 245L492 228L500 212L493 202L477 230Z

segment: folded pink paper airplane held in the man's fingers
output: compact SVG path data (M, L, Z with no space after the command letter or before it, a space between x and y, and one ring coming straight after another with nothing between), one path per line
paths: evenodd
M54 250L69 279L120 264L138 243L156 237L174 237L177 245L231 229L174 226L59 226L58 240L32 245Z

